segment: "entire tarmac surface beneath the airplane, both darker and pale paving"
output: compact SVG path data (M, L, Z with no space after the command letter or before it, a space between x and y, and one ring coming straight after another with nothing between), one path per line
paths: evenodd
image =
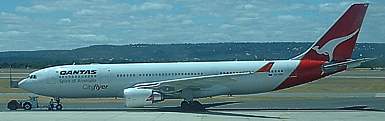
M0 106L0 121L383 121L385 117L385 97L381 96L382 93L332 94L334 96L331 97L324 97L322 94L308 97L309 95L307 93L271 93L234 96L229 98L242 100L264 96L266 99L259 97L252 101L209 102L204 104L207 107L206 110L197 112L180 111L178 101L144 108L125 108L123 101L79 102L64 104L63 111L47 111L45 108L9 111L5 109L6 104L3 103Z

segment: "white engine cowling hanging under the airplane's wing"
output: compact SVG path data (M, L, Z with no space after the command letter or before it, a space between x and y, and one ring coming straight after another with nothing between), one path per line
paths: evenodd
M152 89L127 88L124 89L127 107L143 107L164 100L161 93Z

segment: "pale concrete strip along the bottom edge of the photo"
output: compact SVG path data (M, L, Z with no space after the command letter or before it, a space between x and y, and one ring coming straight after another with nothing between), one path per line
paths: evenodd
M62 111L0 113L1 121L383 121L385 113L369 111Z

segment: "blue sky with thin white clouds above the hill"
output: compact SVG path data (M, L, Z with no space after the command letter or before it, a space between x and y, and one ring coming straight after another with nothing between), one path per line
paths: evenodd
M370 3L358 42L385 43L384 0L1 0L0 51L314 42L354 2Z

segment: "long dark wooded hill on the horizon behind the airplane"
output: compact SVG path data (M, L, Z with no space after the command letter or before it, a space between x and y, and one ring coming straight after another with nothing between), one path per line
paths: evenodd
M289 59L312 43L201 43L201 44L132 44L95 45L72 50L0 52L0 66L43 68L63 64L137 63L219 60ZM353 58L377 60L364 67L385 67L385 43L358 43Z

